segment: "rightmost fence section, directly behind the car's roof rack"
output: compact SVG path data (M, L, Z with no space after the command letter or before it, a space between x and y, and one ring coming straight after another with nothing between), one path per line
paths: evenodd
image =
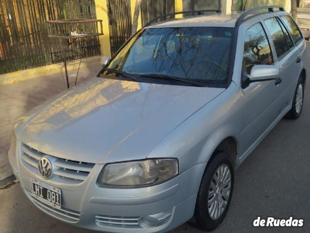
M174 0L142 0L141 21L144 27L150 20L157 16L174 12ZM164 17L160 20L167 20L174 16Z

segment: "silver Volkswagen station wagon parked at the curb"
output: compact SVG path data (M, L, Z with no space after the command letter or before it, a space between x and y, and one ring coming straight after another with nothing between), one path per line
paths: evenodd
M222 222L234 170L301 114L306 40L279 6L183 14L151 22L97 77L17 120L9 160L36 207L112 233Z

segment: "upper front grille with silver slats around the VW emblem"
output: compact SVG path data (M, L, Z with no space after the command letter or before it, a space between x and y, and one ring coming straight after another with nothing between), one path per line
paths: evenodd
M23 164L32 172L39 174L38 162L39 160L47 155L38 150L27 146L26 144L21 144L21 160ZM73 161L68 159L57 158L52 155L55 161L53 166L55 167L53 174L64 183L80 183L85 181L89 173L92 171L94 164L84 163L80 161Z

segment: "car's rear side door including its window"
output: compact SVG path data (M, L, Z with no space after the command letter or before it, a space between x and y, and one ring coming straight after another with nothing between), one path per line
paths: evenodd
M275 65L279 67L281 83L279 83L279 100L281 102L279 114L281 114L293 100L296 82L299 76L300 50L294 46L293 39L288 33L279 17L271 17L264 20L267 33L271 38L277 55Z

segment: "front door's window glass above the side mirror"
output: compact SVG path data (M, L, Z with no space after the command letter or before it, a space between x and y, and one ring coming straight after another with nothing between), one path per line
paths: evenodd
M261 23L251 26L246 31L243 59L248 74L255 65L273 63L270 46Z

